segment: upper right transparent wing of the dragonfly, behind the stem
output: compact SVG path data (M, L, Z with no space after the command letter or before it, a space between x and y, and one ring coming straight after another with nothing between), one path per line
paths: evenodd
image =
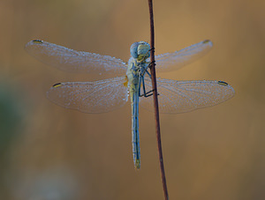
M211 41L201 41L173 53L155 56L155 70L157 70L157 72L178 70L186 64L193 63L193 61L207 54L212 46L213 43Z

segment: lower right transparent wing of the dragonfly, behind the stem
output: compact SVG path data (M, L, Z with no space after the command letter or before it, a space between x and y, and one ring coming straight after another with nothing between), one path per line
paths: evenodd
M147 92L152 90L151 79L146 76ZM235 91L223 81L176 81L157 79L159 111L184 113L203 107L211 107L231 99ZM140 106L153 110L153 98L141 97Z

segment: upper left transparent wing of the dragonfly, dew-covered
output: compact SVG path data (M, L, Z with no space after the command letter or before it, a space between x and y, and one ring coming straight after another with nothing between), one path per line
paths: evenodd
M76 51L47 41L29 41L25 49L42 63L67 72L125 74L126 71L126 63L115 57Z

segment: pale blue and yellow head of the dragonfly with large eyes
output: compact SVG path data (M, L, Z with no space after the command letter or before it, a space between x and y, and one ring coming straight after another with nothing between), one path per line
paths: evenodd
M150 45L146 41L134 42L130 48L133 58L146 60L150 57Z

